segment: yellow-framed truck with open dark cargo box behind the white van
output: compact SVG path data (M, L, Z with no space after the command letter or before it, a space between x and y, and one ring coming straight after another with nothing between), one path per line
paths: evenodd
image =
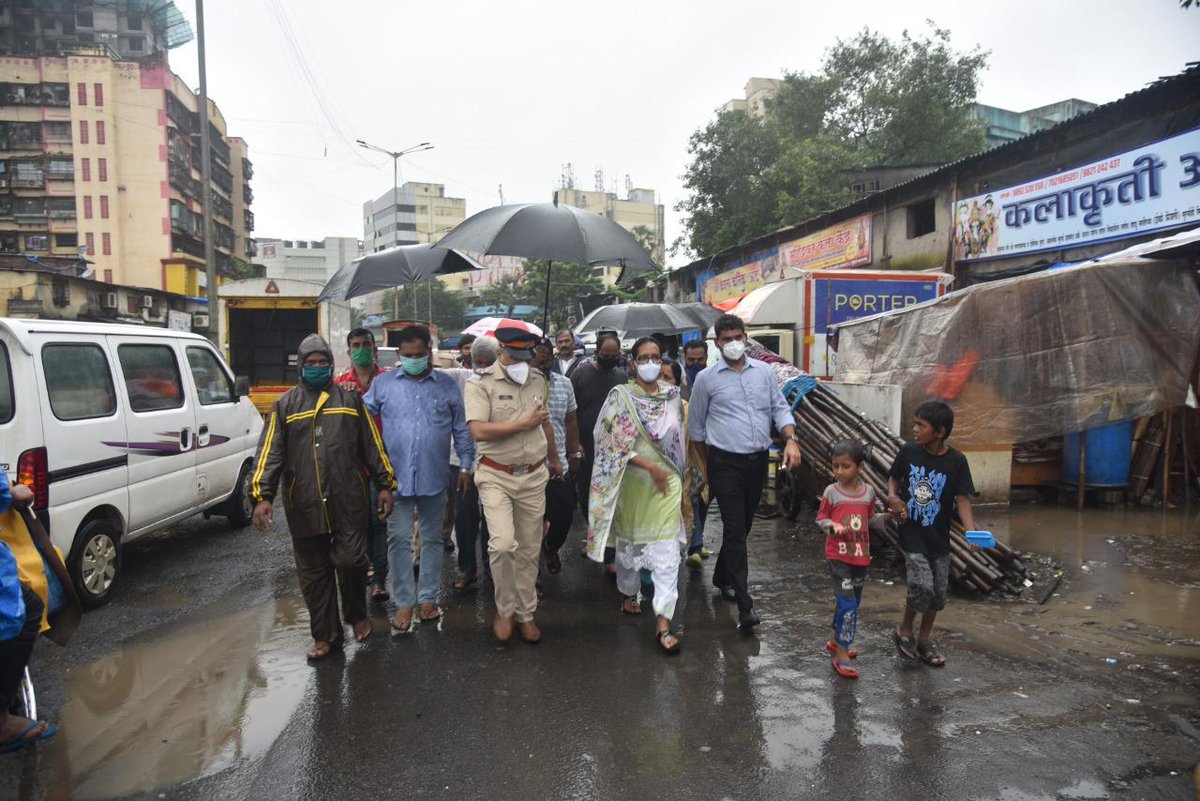
M221 284L221 350L236 375L250 383L250 398L262 414L296 385L296 350L310 333L334 349L335 374L349 368L346 336L350 307L317 303L323 284L292 278L245 278Z

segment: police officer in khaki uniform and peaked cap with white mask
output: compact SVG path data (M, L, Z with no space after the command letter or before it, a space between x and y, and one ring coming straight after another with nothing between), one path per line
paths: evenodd
M475 486L491 531L488 554L496 585L492 630L512 637L514 618L527 643L541 639L538 561L541 554L546 482L563 465L546 411L546 379L529 369L538 337L521 327L496 330L499 359L467 381L467 424L479 451Z

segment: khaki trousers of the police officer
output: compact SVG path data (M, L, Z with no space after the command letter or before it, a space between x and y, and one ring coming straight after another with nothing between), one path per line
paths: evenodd
M524 622L538 610L538 561L541 558L546 482L541 466L523 476L511 476L486 465L475 471L479 501L491 534L487 552L496 585L496 614L516 615Z

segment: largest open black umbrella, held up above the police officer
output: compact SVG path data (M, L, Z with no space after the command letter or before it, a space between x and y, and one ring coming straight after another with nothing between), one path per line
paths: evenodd
M480 211L458 223L438 247L547 261L620 264L619 281L658 269L628 230L607 217L557 201L515 203ZM547 269L542 330L550 325L550 273Z

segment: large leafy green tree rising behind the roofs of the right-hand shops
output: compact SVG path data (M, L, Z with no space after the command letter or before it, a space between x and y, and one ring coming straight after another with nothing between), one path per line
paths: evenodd
M958 52L929 25L895 41L871 30L839 40L816 73L785 76L763 119L728 112L696 131L673 249L714 254L841 205L857 169L980 151L972 104L988 54Z

